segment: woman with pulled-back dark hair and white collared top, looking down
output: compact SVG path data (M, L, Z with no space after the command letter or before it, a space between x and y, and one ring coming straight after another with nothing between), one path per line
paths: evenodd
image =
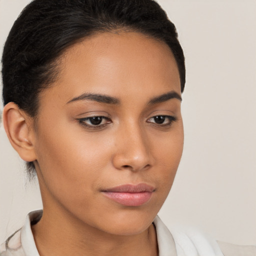
M154 1L34 0L2 63L4 127L36 171L43 212L31 212L0 255L255 251L199 234L173 241L156 217L182 153L185 68Z

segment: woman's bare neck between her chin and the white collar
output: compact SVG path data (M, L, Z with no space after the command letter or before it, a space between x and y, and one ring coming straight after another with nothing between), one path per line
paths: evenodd
M138 234L116 235L92 227L69 212L44 207L42 218L31 228L40 256L158 255L153 224Z

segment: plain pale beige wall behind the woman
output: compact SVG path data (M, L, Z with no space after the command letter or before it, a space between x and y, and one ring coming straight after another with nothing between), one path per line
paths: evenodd
M28 0L0 0L0 46ZM186 56L184 152L160 210L167 226L256 244L256 1L159 0ZM0 106L2 107L2 106ZM0 242L41 207L0 128Z

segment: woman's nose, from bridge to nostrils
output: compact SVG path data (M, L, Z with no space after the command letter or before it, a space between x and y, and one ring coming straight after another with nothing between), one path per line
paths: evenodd
M152 165L149 142L139 125L126 126L118 131L112 161L120 170L139 171Z

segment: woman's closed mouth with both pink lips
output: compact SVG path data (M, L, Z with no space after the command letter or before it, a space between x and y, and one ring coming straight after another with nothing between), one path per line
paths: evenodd
M124 184L107 188L102 190L102 193L109 199L122 205L139 206L149 201L154 191L154 187L139 183L136 185Z

